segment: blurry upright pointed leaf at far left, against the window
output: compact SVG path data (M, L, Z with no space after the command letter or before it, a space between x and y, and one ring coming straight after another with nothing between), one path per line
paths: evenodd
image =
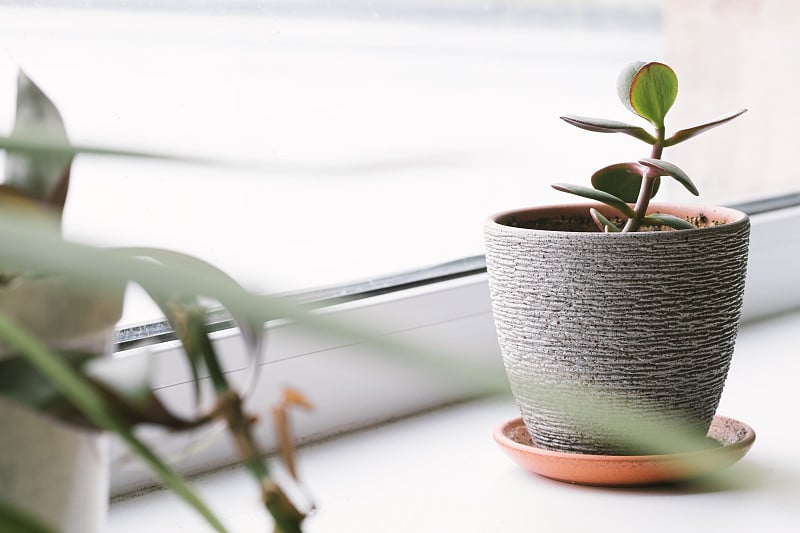
M58 109L22 70L17 77L17 112L11 137L69 145ZM72 157L70 153L34 156L10 149L6 156L5 183L61 210L66 201Z

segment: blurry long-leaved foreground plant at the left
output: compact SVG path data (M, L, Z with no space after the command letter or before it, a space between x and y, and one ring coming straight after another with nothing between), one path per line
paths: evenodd
M206 301L213 299L228 310L242 332L253 368L258 363L262 326L269 317L248 305L253 299L233 279L198 259L160 249L99 249L65 241L61 237L61 219L75 155L142 154L71 145L58 109L23 72L18 78L16 112L12 134L0 138L0 148L6 151L5 182L0 185L0 234L12 228L16 232L11 239L3 237L5 246L11 248L4 248L0 257L0 291L11 291L36 280L56 279L56 290L62 286L68 288L67 292L85 287L96 291L98 298L121 302L125 284L137 283L160 306L175 337L183 344L195 378L198 410L193 418L171 413L151 388L144 357L117 359L55 350L3 309L0 398L76 427L116 433L166 486L219 532L226 531L225 527L181 476L137 437L135 428L147 424L178 431L222 422L238 449L240 463L256 481L263 505L274 519L274 531L301 531L306 512L273 480L270 465L258 449L253 433L256 416L245 409L242 393L226 376L210 340ZM31 240L43 243L37 252L41 259L33 266L13 259L14 250L28 246L21 244L27 242L27 238L20 240L19 235L28 235L23 230L30 230ZM103 264L98 268L97 262ZM37 315L45 315L51 323L63 319L59 311L41 307ZM213 391L211 402L201 402L204 390L200 382L205 379ZM208 404L210 407L203 407ZM274 414L281 455L296 479L285 413L292 406L308 407L302 395L291 392ZM49 531L46 527L37 528L30 520L24 522L26 518L19 513L0 501L0 529L6 530L3 524L16 524L15 531Z

